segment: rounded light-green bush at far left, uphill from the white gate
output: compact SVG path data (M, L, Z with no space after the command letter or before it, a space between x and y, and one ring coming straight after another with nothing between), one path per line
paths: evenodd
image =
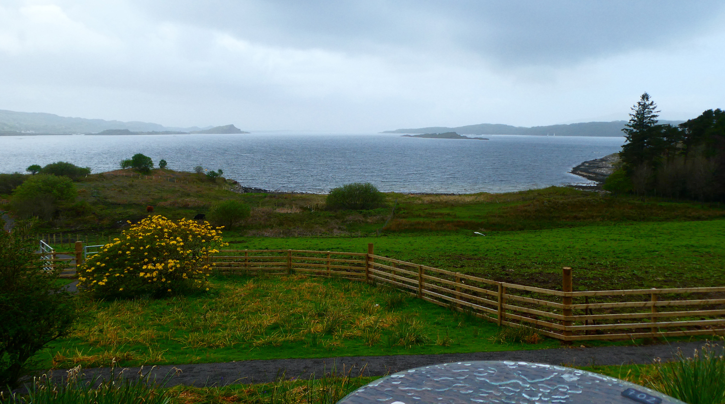
M77 190L70 178L36 174L13 190L11 203L22 216L51 219L58 203L72 201L75 195Z

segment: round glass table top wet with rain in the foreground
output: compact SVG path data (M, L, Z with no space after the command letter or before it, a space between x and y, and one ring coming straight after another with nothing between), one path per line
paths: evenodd
M421 366L377 379L338 401L362 403L684 404L647 387L602 374L511 361Z

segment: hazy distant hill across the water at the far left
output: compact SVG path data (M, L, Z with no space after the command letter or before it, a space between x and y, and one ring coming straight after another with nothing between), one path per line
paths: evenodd
M229 126L229 125L227 125ZM104 119L60 117L44 112L17 112L0 109L0 132L34 133L97 133L104 130L128 130L129 132L193 132L209 130L207 127L165 127L151 122L120 122ZM236 129L236 128L235 128Z

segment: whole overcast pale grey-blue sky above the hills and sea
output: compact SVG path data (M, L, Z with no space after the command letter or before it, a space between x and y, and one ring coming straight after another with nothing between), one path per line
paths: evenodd
M0 2L0 109L363 132L725 108L725 1Z

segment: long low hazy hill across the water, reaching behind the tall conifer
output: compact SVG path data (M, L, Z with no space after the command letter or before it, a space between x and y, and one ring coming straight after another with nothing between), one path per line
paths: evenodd
M677 125L684 121L660 120L660 124ZM464 135L557 135L557 136L624 136L622 129L626 121L581 122L569 125L511 126L502 124L479 124L459 127L420 127L418 129L386 130L381 133L436 133L457 132Z

